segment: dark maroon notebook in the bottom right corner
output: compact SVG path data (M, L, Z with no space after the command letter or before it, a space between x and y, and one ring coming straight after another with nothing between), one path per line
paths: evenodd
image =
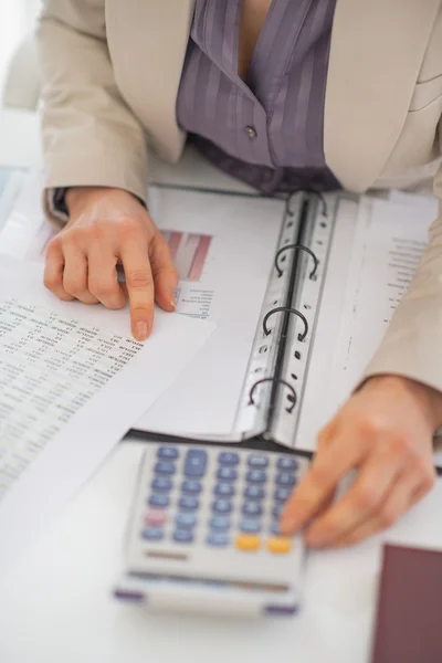
M442 663L442 551L385 547L371 662Z

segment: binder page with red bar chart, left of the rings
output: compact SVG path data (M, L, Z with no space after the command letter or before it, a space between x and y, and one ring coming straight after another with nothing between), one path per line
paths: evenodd
M230 435L285 202L155 189L150 207L180 274L178 313L208 318L218 327L135 428L188 436Z

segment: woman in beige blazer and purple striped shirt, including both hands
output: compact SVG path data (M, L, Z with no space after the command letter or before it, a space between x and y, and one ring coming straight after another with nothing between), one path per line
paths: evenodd
M440 0L46 0L44 201L61 232L45 285L118 308L133 333L177 274L146 207L147 152L186 136L266 194L415 185L440 156ZM430 165L430 166L429 166ZM422 167L425 167L423 169ZM442 176L436 177L436 192ZM345 546L393 523L432 486L442 424L442 218L360 389L322 431L283 528ZM330 505L338 482L356 481Z

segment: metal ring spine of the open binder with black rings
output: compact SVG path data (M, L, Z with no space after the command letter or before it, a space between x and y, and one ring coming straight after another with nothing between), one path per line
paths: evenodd
M337 198L330 201L336 204ZM252 432L294 446L332 236L322 194L302 192L288 200L236 417L244 438Z

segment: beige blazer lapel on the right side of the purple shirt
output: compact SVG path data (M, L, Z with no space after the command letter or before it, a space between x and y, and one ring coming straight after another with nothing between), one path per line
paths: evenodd
M403 127L441 0L337 0L324 149L341 185L365 191Z

